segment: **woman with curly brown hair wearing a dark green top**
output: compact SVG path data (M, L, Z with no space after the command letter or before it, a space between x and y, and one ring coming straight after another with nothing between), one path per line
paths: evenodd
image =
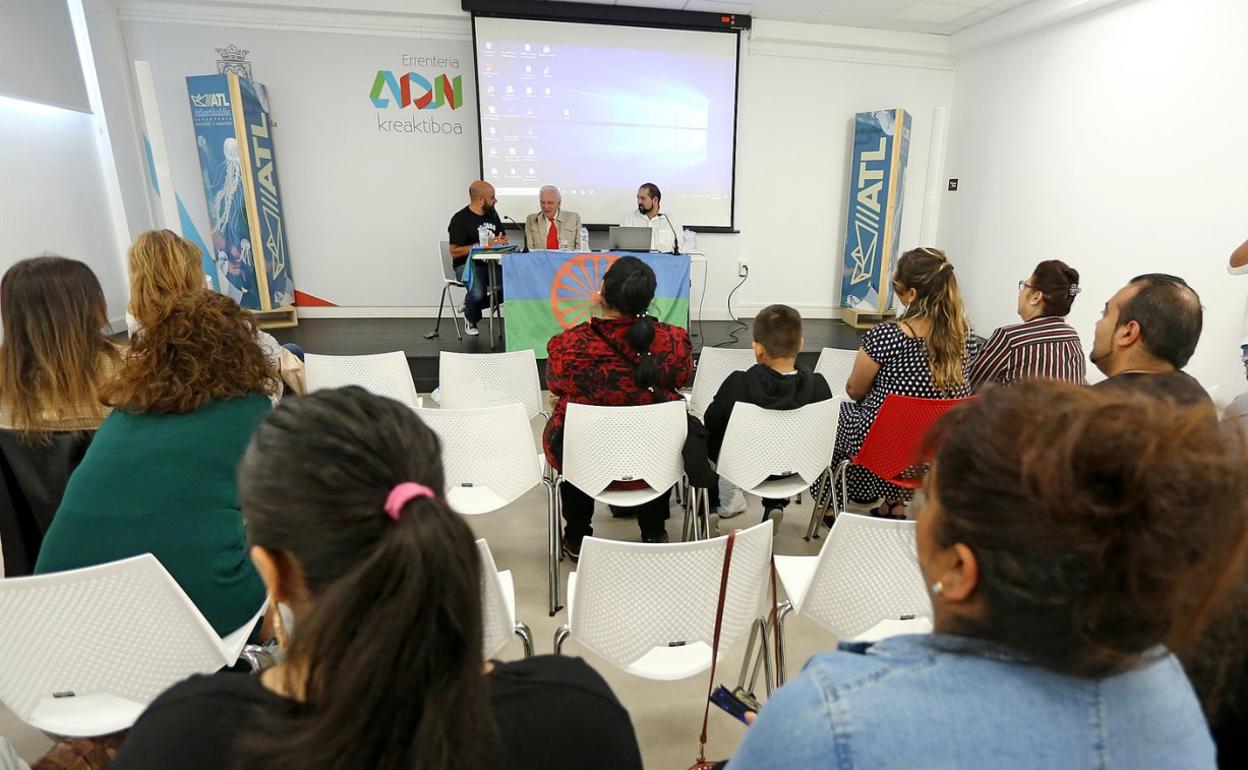
M246 311L177 297L134 342L114 407L70 477L36 574L155 554L220 634L265 600L235 470L277 383Z

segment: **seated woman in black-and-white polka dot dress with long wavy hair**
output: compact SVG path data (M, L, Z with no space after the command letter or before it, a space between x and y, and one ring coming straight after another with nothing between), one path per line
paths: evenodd
M971 394L971 364L978 341L971 333L953 266L938 248L915 248L897 261L892 290L906 306L896 322L862 337L854 372L845 386L852 402L841 404L832 467L862 447L875 416L890 393L919 398ZM849 497L866 503L884 498L876 515L905 517L910 490L851 465Z

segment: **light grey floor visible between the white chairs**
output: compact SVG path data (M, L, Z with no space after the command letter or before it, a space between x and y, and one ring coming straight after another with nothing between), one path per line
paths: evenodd
M473 530L489 542L498 568L512 570L517 592L517 618L533 630L538 654L553 651L554 631L565 619L563 612L554 618L547 616L545 515L545 492L538 487L508 509L469 519ZM809 515L809 495L804 495L801 505L789 507L775 540L778 554L817 553L822 540L811 543L802 540ZM751 499L750 509L730 523L735 527L749 527L759 522L760 517L759 500ZM668 523L673 538L679 537L680 523L680 513L673 510L673 518ZM723 528L726 529L728 524L729 522L724 522ZM612 519L605 509L595 513L594 529L598 537L640 539L635 520ZM562 564L560 578L564 588L569 568L568 562ZM834 646L834 639L827 633L802 618L791 616L785 628L790 675L796 674L811 654ZM720 668L718 676L720 681L735 683L745 653L744 646L743 641L729 651L725 665ZM564 653L582 654L574 643L568 643ZM518 658L520 654L520 644L514 640L499 656L508 659ZM651 770L688 768L698 750L698 731L701 726L701 704L706 693L708 675L700 674L681 681L648 681L610 669L592 655L584 656L603 674L631 714L646 768ZM730 755L744 730L740 723L713 708L708 756L719 759ZM24 725L2 706L0 706L0 735L10 739L19 754L26 759L37 758L50 745L47 739Z

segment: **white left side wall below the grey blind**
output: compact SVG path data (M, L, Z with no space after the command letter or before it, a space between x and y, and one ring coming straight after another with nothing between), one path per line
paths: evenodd
M55 252L91 266L119 319L127 302L94 117L0 97L0 272Z

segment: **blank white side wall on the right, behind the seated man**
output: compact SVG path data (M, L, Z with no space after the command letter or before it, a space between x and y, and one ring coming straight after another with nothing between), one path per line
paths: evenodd
M1087 349L1114 291L1171 272L1206 306L1188 371L1219 397L1243 389L1248 280L1226 266L1248 237L1244 30L1243 0L1136 0L962 54L940 241L980 333L1015 321L1040 260L1081 272Z

